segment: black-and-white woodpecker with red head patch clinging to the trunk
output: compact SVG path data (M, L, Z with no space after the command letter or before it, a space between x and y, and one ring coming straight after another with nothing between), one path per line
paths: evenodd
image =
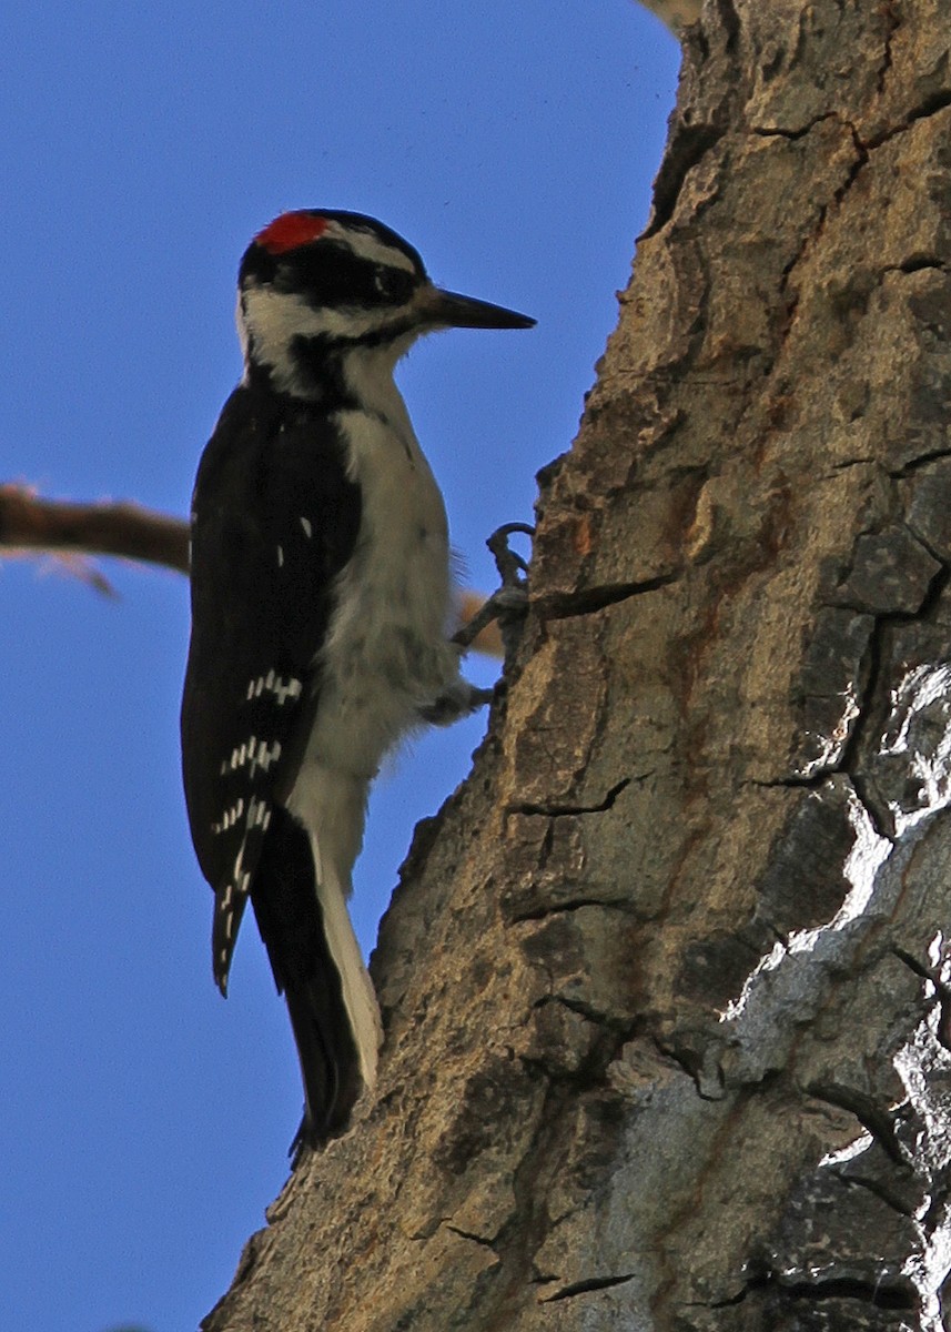
M244 378L192 502L182 770L214 979L225 994L250 898L300 1056L301 1144L342 1132L376 1075L346 910L369 785L409 729L476 699L446 638L442 496L393 369L433 329L533 324L440 290L358 213L284 213L241 261Z

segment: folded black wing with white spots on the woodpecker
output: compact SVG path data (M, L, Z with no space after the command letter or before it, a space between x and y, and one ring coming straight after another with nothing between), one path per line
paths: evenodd
M333 585L358 527L360 490L332 420L236 389L194 488L181 714L185 798L216 894L222 992L276 789L317 707Z

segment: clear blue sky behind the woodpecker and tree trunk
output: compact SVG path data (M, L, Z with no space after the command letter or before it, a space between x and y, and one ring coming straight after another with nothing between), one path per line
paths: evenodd
M13 4L0 51L0 480L185 514L238 376L234 273L293 206L382 218L538 318L400 372L469 581L530 521L617 317L673 104L631 0ZM0 565L0 1327L197 1325L286 1175L301 1094L248 916L221 1000L178 779L184 578ZM482 682L491 665L473 665ZM366 950L483 718L381 778Z

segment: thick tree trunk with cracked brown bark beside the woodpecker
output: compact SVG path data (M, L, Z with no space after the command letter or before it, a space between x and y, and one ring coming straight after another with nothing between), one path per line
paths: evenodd
M381 930L378 1098L208 1332L942 1327L950 37L689 33L507 694Z

